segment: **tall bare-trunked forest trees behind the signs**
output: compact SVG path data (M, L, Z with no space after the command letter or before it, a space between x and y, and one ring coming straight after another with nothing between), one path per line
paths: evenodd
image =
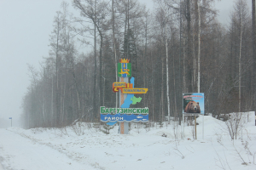
M135 87L148 88L136 107L148 107L150 121L180 120L183 93L204 93L205 112L214 116L255 111L255 0L253 9L236 0L225 25L214 0L154 3L154 10L137 0L61 3L49 56L38 71L28 65L24 127L99 122L100 106L119 107L112 91L119 59L130 59Z

